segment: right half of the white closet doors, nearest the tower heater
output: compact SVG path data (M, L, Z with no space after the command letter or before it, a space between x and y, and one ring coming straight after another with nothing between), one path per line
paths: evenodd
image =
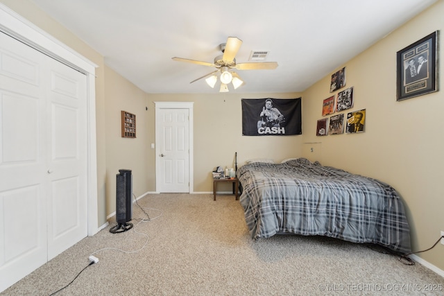
M87 80L85 74L48 59L48 256L53 259L87 236Z

